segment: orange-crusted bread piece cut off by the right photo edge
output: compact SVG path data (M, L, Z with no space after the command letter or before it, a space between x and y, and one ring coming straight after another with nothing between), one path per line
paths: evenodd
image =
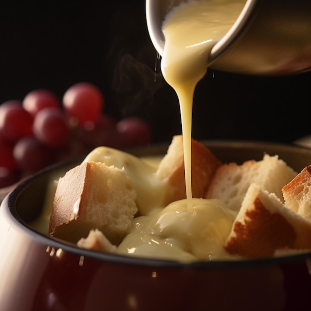
M311 221L311 165L282 189L286 207Z

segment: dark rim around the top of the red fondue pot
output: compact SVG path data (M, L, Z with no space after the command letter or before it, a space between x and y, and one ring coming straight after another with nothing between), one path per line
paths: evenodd
M248 141L202 141L204 145L209 148L226 147L230 149L238 148L248 148L253 150L266 150L267 148L273 148L277 150L282 150L283 152L302 152L311 156L311 149L298 146L295 144L282 144L282 143L271 143L271 142L248 142ZM139 156L156 156L160 153L155 153L155 151L166 151L168 144L155 144L148 148L148 153L146 153L146 147L131 148L125 150L126 152L134 153ZM18 228L23 234L26 234L31 240L41 245L54 247L57 249L62 249L65 252L73 253L78 256L89 257L102 262L123 264L123 265L139 265L145 267L155 267L155 268L199 268L199 269L211 269L211 268L233 268L233 267L246 267L249 265L271 265L280 264L286 262L294 261L306 261L311 260L311 251L308 252L297 252L293 255L282 255L278 257L269 258L258 258L258 259L228 259L228 260L215 260L215 261L195 261L191 263L180 263L171 260L161 260L134 256L125 256L119 254L105 253L101 251L84 249L76 246L74 243L66 242L64 240L51 237L36 231L29 224L27 224L18 214L16 210L16 201L19 196L27 191L27 188L33 183L38 177L49 174L55 169L60 169L63 166L78 163L82 158L77 158L71 161L63 161L53 165L50 165L36 174L26 178L21 181L10 193L8 193L1 203L0 208L4 210L7 219L10 222L10 226Z

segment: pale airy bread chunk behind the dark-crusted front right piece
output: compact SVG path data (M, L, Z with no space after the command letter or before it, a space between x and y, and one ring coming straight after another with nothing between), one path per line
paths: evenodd
M238 211L248 187L254 182L283 200L283 186L296 175L278 156L267 154L260 161L223 164L216 170L205 198L222 200L228 208Z

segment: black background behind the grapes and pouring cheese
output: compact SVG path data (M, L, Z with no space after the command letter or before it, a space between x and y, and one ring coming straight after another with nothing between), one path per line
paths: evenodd
M155 73L144 0L7 0L0 14L1 103L35 88L61 98L88 81L104 92L106 113L145 118L155 142L181 133L176 95L159 64ZM310 82L310 73L267 78L209 69L194 98L193 137L292 142L309 135Z

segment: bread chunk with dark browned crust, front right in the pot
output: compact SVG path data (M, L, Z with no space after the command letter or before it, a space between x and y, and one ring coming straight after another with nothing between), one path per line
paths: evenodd
M311 222L286 208L274 193L253 183L233 222L225 249L245 258L271 257L277 250L310 250Z

